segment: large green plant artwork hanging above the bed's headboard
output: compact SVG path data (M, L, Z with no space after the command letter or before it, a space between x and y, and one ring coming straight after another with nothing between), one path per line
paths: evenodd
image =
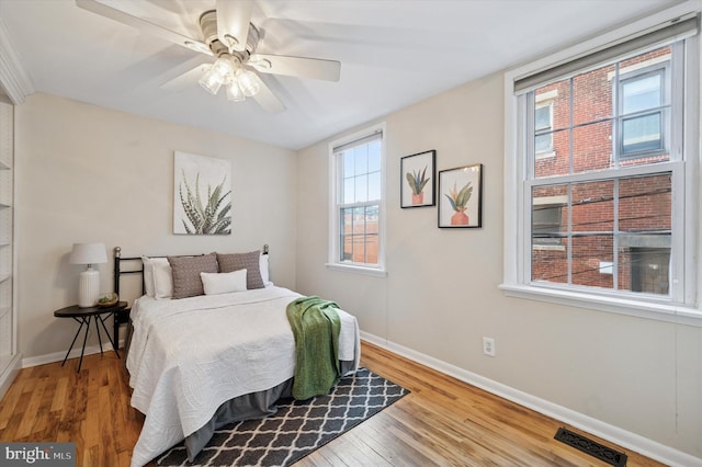
M173 234L231 234L231 162L174 153Z

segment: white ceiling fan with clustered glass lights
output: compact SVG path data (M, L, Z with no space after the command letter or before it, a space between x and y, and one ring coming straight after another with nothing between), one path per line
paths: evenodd
M256 49L261 31L250 22L252 0L217 0L216 10L205 11L200 16L202 39L170 31L98 0L76 0L76 4L147 34L214 57L213 62L199 65L166 83L165 88L168 84L197 80L205 90L216 94L224 86L230 101L241 102L246 98L252 98L264 111L279 113L285 110L285 105L261 80L258 72L339 81L339 61L258 53Z

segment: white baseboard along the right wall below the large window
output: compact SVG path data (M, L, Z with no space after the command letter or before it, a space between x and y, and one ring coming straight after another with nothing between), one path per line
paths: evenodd
M488 379L484 376L451 365L432 356L424 355L406 346L363 331L361 332L361 339L666 465L680 467L702 466L702 458L700 457L692 456L691 454L683 453L682 451L675 449L656 441L609 423L604 423L600 420L593 419L592 417L576 412L575 410L558 406L492 379Z

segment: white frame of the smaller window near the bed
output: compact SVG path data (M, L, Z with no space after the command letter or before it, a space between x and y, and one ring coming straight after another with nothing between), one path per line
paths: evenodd
M349 207L348 204L341 203L338 200L338 195L340 193L340 183L341 183L341 168L337 162L337 158L335 157L335 148L339 148L340 146L346 146L349 144L353 144L354 141L362 140L364 138L371 137L375 134L381 134L381 198L378 201L378 251L377 251L377 265L366 264L366 263L353 263L341 261L341 219L340 219L340 209L346 206ZM386 157L385 157L385 145L386 145L386 129L385 123L380 123L361 129L359 132L354 132L353 134L347 135L339 139L335 139L329 143L329 254L328 262L326 266L336 271L359 273L372 276L381 276L385 277L387 275L385 269L385 232L386 232ZM363 205L369 205L369 203L360 203ZM375 204L375 203L371 203Z

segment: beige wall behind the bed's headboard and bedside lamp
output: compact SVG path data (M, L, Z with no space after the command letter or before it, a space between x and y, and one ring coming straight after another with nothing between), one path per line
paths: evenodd
M53 311L77 301L82 266L73 242L104 242L102 289L112 291L112 249L123 255L242 252L271 248L272 280L295 286L295 152L127 115L46 94L15 107L19 350L65 352L76 322ZM233 234L172 235L173 151L229 159ZM94 334L94 331L93 331ZM97 343L95 335L90 341Z

